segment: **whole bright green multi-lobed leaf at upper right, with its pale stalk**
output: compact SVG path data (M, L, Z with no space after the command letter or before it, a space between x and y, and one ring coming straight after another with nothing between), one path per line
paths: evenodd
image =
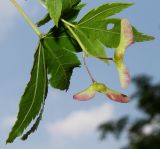
M70 30L71 34L77 40L83 51L94 57L106 58L106 52L104 46L109 48L116 48L120 42L121 36L121 24L120 19L107 19L129 6L131 3L107 3L87 13L79 23L75 25L67 24L66 27ZM112 29L108 29L107 26L113 24ZM151 36L142 35L139 32L135 32L135 37L143 40L153 39ZM105 60L107 63L108 61Z

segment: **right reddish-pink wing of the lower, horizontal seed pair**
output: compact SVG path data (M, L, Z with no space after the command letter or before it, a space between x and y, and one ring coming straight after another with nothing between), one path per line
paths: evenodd
M107 90L106 95L111 100L116 101L116 102L120 102L120 103L127 103L129 100L128 96L121 94L117 91L113 91L111 89Z

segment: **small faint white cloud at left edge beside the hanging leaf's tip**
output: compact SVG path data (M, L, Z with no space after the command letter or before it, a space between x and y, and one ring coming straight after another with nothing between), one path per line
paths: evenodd
M16 117L15 116L5 117L2 120L1 128L2 129L8 129L9 127L11 127L14 124L15 121L16 121Z

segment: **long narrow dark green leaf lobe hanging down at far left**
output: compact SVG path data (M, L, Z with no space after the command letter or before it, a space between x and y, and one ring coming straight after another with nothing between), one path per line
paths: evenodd
M38 116L43 107L47 94L47 69L44 50L39 44L34 57L34 65L30 81L25 89L19 105L19 113L7 143L11 143L20 136L27 126Z

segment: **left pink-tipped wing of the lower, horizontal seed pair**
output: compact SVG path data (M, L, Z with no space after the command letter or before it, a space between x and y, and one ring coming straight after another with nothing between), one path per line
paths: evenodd
M79 92L76 95L74 95L73 99L78 101L88 101L92 99L95 96L95 94L96 91L92 87L89 87L86 90L83 90L82 92Z

